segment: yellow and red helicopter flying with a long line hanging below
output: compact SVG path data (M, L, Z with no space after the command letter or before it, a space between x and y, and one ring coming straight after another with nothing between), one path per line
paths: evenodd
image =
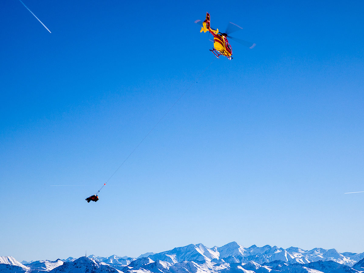
M249 48L254 48L256 46L256 44L254 44L254 43L250 43L248 41L229 36L230 33L235 32L239 29L242 29L242 27L238 26L237 24L230 22L229 25L227 25L226 31L223 33L219 32L219 29L215 30L215 29L210 28L210 14L208 12L206 12L205 21L196 20L195 23L201 25L200 32L203 31L206 33L208 31L214 36L214 41L213 41L214 47L213 47L213 49L210 49L210 51L212 53L214 53L214 55L217 57L217 59L220 59L219 56L221 56L221 55L227 57L227 59L229 59L229 60L233 59L233 57L232 57L233 49L232 49L231 45L229 44L229 41L227 40L227 38L237 41L238 43L245 45L246 47L249 47Z

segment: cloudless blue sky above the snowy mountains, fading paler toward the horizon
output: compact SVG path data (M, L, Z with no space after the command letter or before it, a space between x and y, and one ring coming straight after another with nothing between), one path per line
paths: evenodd
M0 256L364 252L363 1L24 4L52 33L1 1ZM257 46L216 59L206 11Z

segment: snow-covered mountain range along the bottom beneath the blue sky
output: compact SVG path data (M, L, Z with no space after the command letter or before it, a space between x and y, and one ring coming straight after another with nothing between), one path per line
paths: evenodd
M190 244L137 258L88 256L18 262L0 256L0 273L362 273L364 253L335 249L303 250L265 245L249 248L230 242L207 248Z

